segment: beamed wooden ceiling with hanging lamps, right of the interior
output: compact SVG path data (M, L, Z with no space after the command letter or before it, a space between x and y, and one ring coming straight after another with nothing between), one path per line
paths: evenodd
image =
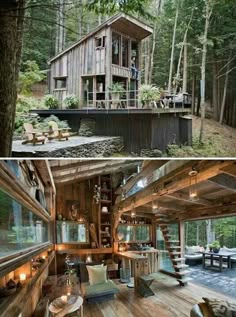
M189 199L189 171L198 171L198 200ZM153 195L155 191L155 195ZM158 209L152 209L152 201ZM117 217L129 214L151 215L157 223L236 215L236 161L186 161L142 191L114 207Z

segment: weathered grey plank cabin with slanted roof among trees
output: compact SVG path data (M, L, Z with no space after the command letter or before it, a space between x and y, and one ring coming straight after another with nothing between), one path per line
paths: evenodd
M137 106L141 44L152 32L129 15L113 16L49 61L49 92L62 107L65 97L74 94L80 99L80 108L109 108L109 87L119 82L127 91L123 106ZM137 73L131 71L131 63Z

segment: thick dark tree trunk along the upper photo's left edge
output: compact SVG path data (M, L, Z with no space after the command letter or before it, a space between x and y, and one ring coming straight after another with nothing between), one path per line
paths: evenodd
M0 157L10 157L14 131L25 0L0 3Z

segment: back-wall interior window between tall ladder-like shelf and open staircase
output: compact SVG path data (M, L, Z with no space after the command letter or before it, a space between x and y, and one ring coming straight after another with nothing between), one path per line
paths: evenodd
M150 242L150 225L119 225L118 232L123 233L124 242Z

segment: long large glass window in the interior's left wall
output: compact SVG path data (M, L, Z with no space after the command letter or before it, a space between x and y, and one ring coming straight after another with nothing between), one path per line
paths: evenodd
M48 224L0 190L0 258L48 241Z

